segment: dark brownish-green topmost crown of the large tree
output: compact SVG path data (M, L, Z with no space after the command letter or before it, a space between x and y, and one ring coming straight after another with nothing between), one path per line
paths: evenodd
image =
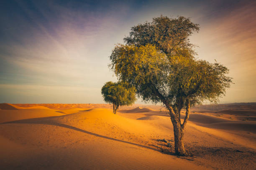
M161 15L153 18L151 23L146 22L132 27L130 36L125 37L124 41L137 47L154 44L168 56L181 51L194 54L194 45L189 42L189 36L194 31L199 31L199 25L192 23L189 18L168 18Z

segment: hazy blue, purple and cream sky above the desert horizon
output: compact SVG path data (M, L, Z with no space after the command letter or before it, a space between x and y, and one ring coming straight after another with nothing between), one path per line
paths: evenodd
M115 44L161 15L200 25L197 57L233 77L220 103L256 102L255 0L1 0L0 103L104 103Z

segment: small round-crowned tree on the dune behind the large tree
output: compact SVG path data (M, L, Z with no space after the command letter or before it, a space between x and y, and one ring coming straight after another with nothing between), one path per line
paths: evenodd
M136 101L136 89L125 82L106 82L101 89L104 101L113 104L116 114L119 106L132 105Z

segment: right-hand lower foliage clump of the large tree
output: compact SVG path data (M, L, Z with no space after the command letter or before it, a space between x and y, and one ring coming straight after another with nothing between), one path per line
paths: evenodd
M218 102L232 82L232 78L226 76L228 68L217 62L212 64L183 56L174 56L169 62L168 86L172 87L169 89L173 96L172 105L178 100L182 108L185 100L189 100L190 105L204 100Z

